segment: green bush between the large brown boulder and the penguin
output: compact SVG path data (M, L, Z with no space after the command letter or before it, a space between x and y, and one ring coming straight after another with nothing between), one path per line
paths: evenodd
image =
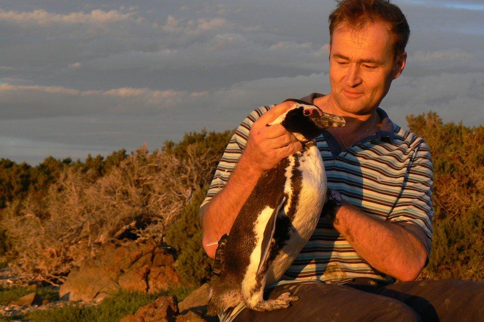
M212 260L202 247L202 227L198 209L208 186L194 193L190 203L183 207L182 215L167 230L166 242L175 248L178 258L175 269L187 285L201 285L211 275Z

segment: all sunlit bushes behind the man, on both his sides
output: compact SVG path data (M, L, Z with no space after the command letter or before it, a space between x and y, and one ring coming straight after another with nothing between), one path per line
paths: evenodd
M434 162L433 244L421 278L484 280L484 127L443 124L433 112L407 120ZM185 284L200 285L211 261L198 207L231 135L188 133L153 152L34 167L1 160L0 255L19 273L60 284L110 239L153 238L177 251Z

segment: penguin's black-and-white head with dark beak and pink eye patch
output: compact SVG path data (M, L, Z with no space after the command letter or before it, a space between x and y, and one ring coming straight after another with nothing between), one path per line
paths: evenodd
M345 126L345 119L341 116L325 113L319 107L299 100L291 100L296 104L281 114L274 121L267 124L281 124L299 141L308 142L317 138L322 130L328 127Z

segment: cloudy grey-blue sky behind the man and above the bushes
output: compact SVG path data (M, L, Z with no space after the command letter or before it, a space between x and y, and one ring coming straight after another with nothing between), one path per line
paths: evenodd
M277 4L274 4L277 3ZM380 107L484 124L482 0L394 0L407 66ZM84 159L328 93L330 0L0 0L0 158Z

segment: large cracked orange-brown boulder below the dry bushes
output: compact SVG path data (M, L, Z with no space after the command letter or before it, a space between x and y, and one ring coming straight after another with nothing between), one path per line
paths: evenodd
M60 297L100 302L120 288L148 293L166 290L181 284L173 263L173 255L152 240L113 241L70 271L60 286Z

